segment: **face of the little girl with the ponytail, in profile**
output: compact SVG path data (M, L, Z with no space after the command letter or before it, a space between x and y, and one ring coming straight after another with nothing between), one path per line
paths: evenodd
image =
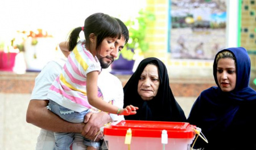
M112 37L106 37L101 42L101 50L100 50L100 56L106 57L110 53L112 53L115 49L115 41L117 41L117 38ZM117 52L118 53L118 52Z

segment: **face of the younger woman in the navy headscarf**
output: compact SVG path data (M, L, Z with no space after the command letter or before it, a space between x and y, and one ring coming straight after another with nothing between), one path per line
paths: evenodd
M236 87L236 65L232 58L221 58L218 60L217 80L223 92L230 92Z

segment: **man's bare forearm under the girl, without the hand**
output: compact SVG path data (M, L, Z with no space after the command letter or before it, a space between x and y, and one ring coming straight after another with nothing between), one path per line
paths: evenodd
M64 121L56 114L49 111L46 106L48 100L30 100L27 108L26 121L45 130L53 132L81 133L84 123L70 123Z

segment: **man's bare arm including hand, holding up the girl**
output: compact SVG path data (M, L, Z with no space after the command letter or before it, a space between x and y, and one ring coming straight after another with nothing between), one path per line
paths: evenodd
M48 100L31 100L28 104L26 121L52 132L76 132L82 133L85 138L94 140L96 133L106 123L113 122L109 114L105 112L88 113L85 123L70 123L61 119L58 115L49 111L46 106ZM97 140L101 138L98 136Z

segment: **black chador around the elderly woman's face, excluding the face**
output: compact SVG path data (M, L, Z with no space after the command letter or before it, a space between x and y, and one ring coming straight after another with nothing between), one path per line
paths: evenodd
M159 70L160 85L158 93L152 100L144 101L138 94L138 82L144 68L155 63ZM135 115L127 115L125 119L141 121L187 121L183 110L172 94L167 68L158 58L146 58L139 63L137 70L123 88L124 106L134 105L139 109Z

